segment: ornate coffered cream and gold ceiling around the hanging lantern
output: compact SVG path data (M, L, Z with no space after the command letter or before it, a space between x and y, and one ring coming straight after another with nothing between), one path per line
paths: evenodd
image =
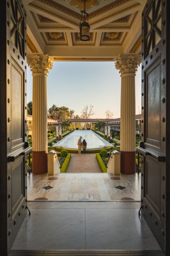
M113 60L140 53L141 12L146 0L86 0L90 41L80 41L83 0L23 0L28 53L54 60Z

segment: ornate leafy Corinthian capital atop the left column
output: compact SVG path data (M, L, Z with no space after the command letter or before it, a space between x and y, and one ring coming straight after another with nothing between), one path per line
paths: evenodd
M53 67L53 62L48 54L30 54L27 57L28 65L31 68L33 74L44 74L48 75L48 70Z

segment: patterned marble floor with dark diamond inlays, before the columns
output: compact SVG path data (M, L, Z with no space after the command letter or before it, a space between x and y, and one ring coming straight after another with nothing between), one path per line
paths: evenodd
M140 174L28 175L28 201L140 201Z

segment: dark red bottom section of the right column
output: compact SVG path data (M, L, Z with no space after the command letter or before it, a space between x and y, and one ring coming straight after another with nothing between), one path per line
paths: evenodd
M136 172L136 153L121 151L121 173L134 174Z

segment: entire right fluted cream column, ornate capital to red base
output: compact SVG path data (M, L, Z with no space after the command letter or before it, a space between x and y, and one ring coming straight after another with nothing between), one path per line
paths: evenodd
M135 173L135 73L140 55L120 55L115 63L121 74L121 172Z

